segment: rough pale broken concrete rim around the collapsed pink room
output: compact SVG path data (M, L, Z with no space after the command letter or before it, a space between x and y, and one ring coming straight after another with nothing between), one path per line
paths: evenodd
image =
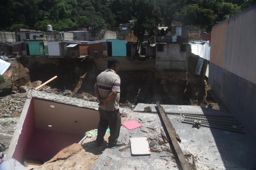
M25 121L27 111L28 111L28 108L29 108L29 104L30 104L30 101L31 101L32 98L51 100L51 101L59 102L59 103L62 103L62 104L69 104L69 105L76 106L76 107L82 107L82 108L88 108L88 109L94 109L94 110L99 109L99 106L98 106L97 102L85 101L85 100L76 99L76 98L72 98L72 97L46 93L46 92L38 91L38 90L29 90L26 102L24 104L22 113L21 113L19 121L17 123L17 127L16 127L16 130L15 130L14 134L13 134L13 137L12 137L12 140L10 142L9 148L8 148L7 151L5 151L7 153L6 160L12 158L13 153L16 149L16 145L17 145L17 142L18 142L18 139L19 139L19 135L22 132L22 126L23 126L23 123ZM119 110L120 110L120 113L126 113L126 114L130 114L132 112L132 109L129 109L129 108L119 108Z

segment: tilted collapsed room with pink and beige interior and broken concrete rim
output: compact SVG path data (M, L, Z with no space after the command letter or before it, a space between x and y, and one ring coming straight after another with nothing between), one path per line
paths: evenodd
M131 109L120 108L121 113ZM49 161L98 126L98 103L30 90L7 151L7 159Z

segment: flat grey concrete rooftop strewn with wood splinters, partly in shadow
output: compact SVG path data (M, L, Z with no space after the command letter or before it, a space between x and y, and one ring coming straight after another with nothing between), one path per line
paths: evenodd
M151 106L153 112L157 111L155 104L138 104L133 110L133 116L130 120L139 121L138 118L140 118L145 123L142 123L142 128L133 130L128 130L122 126L119 140L127 143L130 141L130 135L132 137L149 138L156 137L154 135L160 134L160 129L163 129L163 127L161 126L158 114L134 112L143 111L145 106ZM232 115L199 106L162 106L166 112L172 113ZM256 158L254 156L256 154L256 142L251 138L249 133L239 133L209 127L197 129L192 128L191 124L181 123L181 115L168 115L168 117L182 140L179 144L182 151L184 153L191 152L194 155L202 153L200 160L196 163L198 169L252 169L256 167ZM149 123L147 121L153 122ZM146 127L157 128L157 132L150 133L150 129ZM141 130L146 130L148 133L143 133ZM126 140L124 140L125 137L127 137ZM161 137L157 138L160 139ZM151 140L148 141L151 142ZM169 144L167 143L166 146L169 147ZM131 156L131 149L129 148L125 150L129 153L129 156L124 158L121 156L122 152L119 151L121 148L124 147L106 148L92 169L135 169L134 166L137 169L176 169L174 167L176 163L169 156L161 157L161 155L167 155L165 151L160 153L151 152L150 156ZM111 162L111 164L104 166L106 162Z

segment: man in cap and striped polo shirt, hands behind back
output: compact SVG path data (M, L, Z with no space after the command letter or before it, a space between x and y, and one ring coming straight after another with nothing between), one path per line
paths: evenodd
M122 146L123 142L117 141L121 127L119 112L120 77L119 61L111 57L108 60L108 69L97 76L94 93L99 101L100 122L98 125L97 146L104 141L104 135L109 126L110 136L108 147Z

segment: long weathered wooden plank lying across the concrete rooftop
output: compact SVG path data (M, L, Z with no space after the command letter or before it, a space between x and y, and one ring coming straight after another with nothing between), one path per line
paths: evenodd
M175 137L175 135L173 133L173 130L171 128L172 123L170 122L170 120L166 116L166 113L165 113L164 109L162 108L162 106L160 105L159 102L156 102L156 106L157 106L157 108L159 110L160 116L163 119L164 126L166 127L167 132L168 132L168 134L170 136L172 145L173 145L174 150L175 150L175 152L176 152L176 154L178 156L178 160L180 162L180 166L184 170L190 170L188 162L187 162L187 160L186 160L186 158L185 158L185 156L184 156L184 154L183 154L183 152L182 152L182 150L181 150L181 148L179 146L179 143L178 143L178 141L177 141L177 139L176 139L176 137Z

